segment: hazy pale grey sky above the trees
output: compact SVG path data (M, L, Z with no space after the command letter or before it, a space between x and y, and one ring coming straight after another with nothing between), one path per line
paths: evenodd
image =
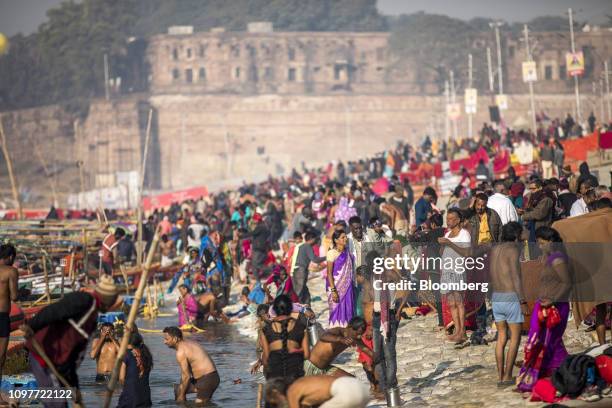
M232 0L227 0L232 1ZM308 0L303 0L308 1ZM13 35L36 31L45 21L45 12L62 0L0 0L0 32ZM606 22L612 15L612 0L378 0L383 14L425 11L452 17L503 18L527 21L535 16L562 15L568 7L576 9L580 21Z

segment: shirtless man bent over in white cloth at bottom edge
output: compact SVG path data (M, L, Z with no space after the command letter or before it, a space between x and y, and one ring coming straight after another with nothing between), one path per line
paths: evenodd
M266 403L272 407L364 408L370 400L368 387L353 377L315 375L291 385L284 378L266 383Z

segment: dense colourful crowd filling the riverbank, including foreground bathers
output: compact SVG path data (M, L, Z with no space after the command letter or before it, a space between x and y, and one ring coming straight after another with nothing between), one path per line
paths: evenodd
M253 315L259 335L258 360L252 370L262 370L270 406L363 407L371 396L393 400L399 393L396 347L401 344L396 334L410 308L418 314L436 313L440 329L458 349L486 344L492 315L497 327L498 385L516 384L531 391L535 380L552 375L567 357L562 337L571 283L563 242L552 224L612 207L609 188L599 185L586 163L574 174L562 159L559 162L558 141L576 126L570 126L569 119L537 135L506 132L504 139L485 126L478 142L470 139L449 147L426 139L418 147L400 144L372 159L302 172L294 169L286 178L269 177L259 184L156 209L144 223L144 252L152 248L157 234L162 266L181 265L168 288L178 292L178 326L164 329L164 342L176 350L181 367L176 399L185 400L194 391L196 402L205 402L220 381L202 346L183 339L185 326L201 328L210 319L230 322ZM400 176L410 171L411 163L444 160L461 149L480 147L493 155L500 145L520 140L542 143L533 174L519 177L512 168L503 175L489 171L485 178L464 174L445 206L440 200L443 192L435 184L417 198L409 178ZM119 263L133 262L137 251L131 238L122 228L108 232L102 243L105 274ZM532 249L526 253L525 242L537 248L527 246ZM519 259L533 259L535 253L543 257L544 269L541 293L529 305ZM458 272L445 262L426 263L418 270L397 266L375 270L377 258L439 257L458 265L460 258L485 254L484 277L471 269ZM36 341L59 373L78 387L76 356L96 330L97 312L116 302L116 282L102 276L93 290L65 296L23 327L31 338L28 348L39 385L57 379L37 354ZM386 285L417 276L450 289L395 290ZM490 299L454 289L455 284L479 278L491 282ZM316 323L313 312L319 301L310 290L313 279L325 282L326 329ZM238 288L237 300L231 296L232 287ZM237 311L224 313L226 306ZM601 344L605 312L605 304L598 306L595 330ZM515 380L513 367L524 315L529 313L529 347ZM127 335L130 351L121 371L126 387L120 406L150 406L148 375L153 357L137 331ZM91 348L98 381L108 379L117 349L113 329L103 326ZM369 389L333 365L348 349L358 353ZM134 394L124 395L126 389Z

